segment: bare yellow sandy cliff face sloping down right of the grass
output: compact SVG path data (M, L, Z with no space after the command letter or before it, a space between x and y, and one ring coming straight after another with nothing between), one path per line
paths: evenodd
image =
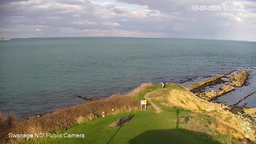
M232 114L228 106L211 103L195 96L187 90L170 90L169 94L163 97L164 104L169 106L183 107L188 110L216 117L220 122L231 126L250 140L255 140L255 123L243 120L244 117ZM250 112L253 112L250 111Z

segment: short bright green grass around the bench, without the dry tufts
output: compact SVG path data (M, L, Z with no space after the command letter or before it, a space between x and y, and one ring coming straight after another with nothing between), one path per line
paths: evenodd
M144 99L147 92L152 92L161 85L154 85L144 92L140 92L138 100ZM167 88L183 89L181 86L168 84ZM179 117L191 112L182 108L162 106L160 102L153 100L162 109L160 113L153 110L137 111L98 117L92 122L74 124L68 128L62 127L58 131L68 134L84 134L84 138L38 138L29 140L26 144L220 144L219 141L227 139L227 136L219 136L214 141L206 134L196 134L183 128L179 123ZM131 114L130 122L121 127L109 127L108 125L118 118ZM215 138L216 140L216 138ZM222 142L224 143L224 142Z

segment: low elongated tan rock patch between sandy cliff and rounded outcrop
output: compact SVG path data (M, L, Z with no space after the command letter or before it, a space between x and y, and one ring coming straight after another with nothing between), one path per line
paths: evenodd
M224 94L227 94L233 90L236 90L233 86L222 86L220 91L212 90L203 93L196 93L196 96L210 102L211 100L223 96Z

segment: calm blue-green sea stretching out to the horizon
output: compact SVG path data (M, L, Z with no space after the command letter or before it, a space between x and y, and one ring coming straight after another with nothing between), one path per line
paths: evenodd
M0 42L0 111L21 116L109 96L143 82L256 68L256 43L172 38L38 38ZM256 91L255 71L248 89ZM244 97L244 96L241 96ZM256 96L247 106L256 107ZM234 102L236 103L236 101Z

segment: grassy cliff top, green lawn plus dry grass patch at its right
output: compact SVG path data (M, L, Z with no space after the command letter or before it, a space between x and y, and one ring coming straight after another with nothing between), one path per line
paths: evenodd
M135 99L143 100L148 92L158 95L167 94L169 90L185 90L181 86L168 84L166 88L153 85L138 92ZM153 93L152 93L153 94ZM147 111L123 112L117 115L98 117L89 122L73 124L58 129L59 134L84 134L84 138L40 138L26 140L25 144L243 144L230 138L226 132L218 130L218 123L210 116L196 114L182 108L163 106L152 98L152 102L161 108L155 113ZM118 118L131 114L131 120L121 127L108 126ZM214 128L213 128L214 127ZM220 127L221 128L221 127ZM222 130L222 129L221 129ZM51 131L54 133L54 131Z

